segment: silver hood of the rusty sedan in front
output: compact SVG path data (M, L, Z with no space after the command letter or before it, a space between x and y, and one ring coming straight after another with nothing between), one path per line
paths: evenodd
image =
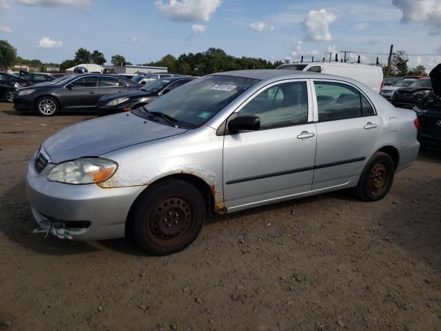
M60 163L79 157L99 157L112 150L186 131L132 113L121 113L69 126L47 139L43 148L52 163Z

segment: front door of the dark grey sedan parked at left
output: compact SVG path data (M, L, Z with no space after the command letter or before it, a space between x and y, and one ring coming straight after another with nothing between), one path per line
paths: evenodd
M65 109L90 109L98 101L99 77L82 76L67 83L60 95L61 107Z

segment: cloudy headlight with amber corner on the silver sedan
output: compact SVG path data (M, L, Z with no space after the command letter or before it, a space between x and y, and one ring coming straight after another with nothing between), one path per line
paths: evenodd
M76 159L55 165L48 174L48 180L68 184L100 183L112 177L116 168L118 164L107 159Z

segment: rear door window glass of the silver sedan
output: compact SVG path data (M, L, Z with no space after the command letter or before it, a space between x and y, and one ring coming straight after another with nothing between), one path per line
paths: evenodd
M351 119L375 114L366 97L344 83L314 81L318 121Z

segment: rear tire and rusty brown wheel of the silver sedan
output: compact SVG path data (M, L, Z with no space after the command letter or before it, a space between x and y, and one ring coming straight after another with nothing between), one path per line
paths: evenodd
M389 192L395 164L389 154L376 152L363 169L355 192L363 201L378 201Z

